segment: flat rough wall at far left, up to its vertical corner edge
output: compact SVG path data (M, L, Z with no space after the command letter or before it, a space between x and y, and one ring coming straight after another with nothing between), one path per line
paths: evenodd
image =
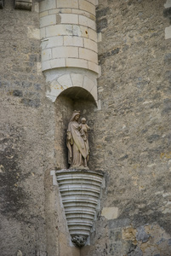
M43 75L37 4L1 9L1 255L46 255Z

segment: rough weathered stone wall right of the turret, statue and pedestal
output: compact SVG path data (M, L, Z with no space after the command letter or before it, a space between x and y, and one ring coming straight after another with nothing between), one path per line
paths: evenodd
M94 167L106 189L82 255L170 255L170 39L166 1L99 1ZM164 15L168 14L168 15Z

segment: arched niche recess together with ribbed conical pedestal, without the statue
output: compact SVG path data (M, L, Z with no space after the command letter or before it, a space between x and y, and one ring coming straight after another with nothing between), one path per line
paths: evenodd
M84 89L72 87L57 97L55 105L56 178L71 241L83 247L92 229L95 211L100 203L100 191L104 173L95 170L91 152L94 151L94 115L97 109L93 96ZM66 130L73 111L81 112L91 128L88 134L90 158L89 170L70 168L67 163Z

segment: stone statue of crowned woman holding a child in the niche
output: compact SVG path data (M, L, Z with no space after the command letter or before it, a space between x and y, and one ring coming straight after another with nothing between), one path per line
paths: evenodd
M68 163L71 168L88 169L89 157L88 130L86 119L82 119L82 124L78 123L80 111L72 113L67 130L66 146L68 148Z

